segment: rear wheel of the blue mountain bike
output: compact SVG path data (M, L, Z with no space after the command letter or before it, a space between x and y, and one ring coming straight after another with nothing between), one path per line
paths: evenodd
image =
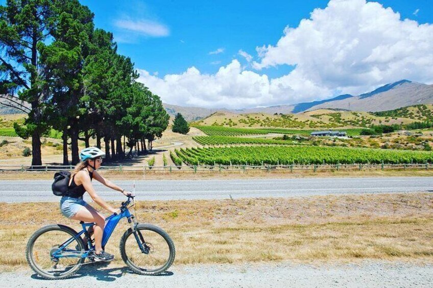
M38 275L47 279L62 279L74 274L84 258L56 257L54 253L66 241L78 234L64 225L48 225L37 230L27 243L26 258L30 267ZM62 255L78 255L84 251L81 237L78 237L62 251Z

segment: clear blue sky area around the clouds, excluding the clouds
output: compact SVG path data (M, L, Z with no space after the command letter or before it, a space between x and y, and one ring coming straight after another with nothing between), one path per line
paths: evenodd
M182 73L195 66L203 73L215 73L222 65L238 57L242 49L252 56L257 46L275 43L284 28L297 27L316 8L328 1L115 1L82 0L95 13L95 25L112 31L119 53L131 57L136 67L165 74ZM419 23L433 22L431 0L380 1L392 7L402 18ZM414 12L419 9L417 15ZM163 25L166 36L125 34L119 19L150 20ZM211 54L223 48L220 54ZM270 67L260 73L276 77L291 71L291 66Z

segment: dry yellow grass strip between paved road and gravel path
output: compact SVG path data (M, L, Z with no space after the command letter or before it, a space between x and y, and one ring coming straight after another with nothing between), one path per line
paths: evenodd
M0 268L26 268L26 243L43 225L78 221L61 216L58 203L0 203ZM175 264L357 259L433 262L433 194L381 194L146 201L139 222L156 224L173 238ZM6 217L7 216L7 217ZM119 224L107 251L124 266Z

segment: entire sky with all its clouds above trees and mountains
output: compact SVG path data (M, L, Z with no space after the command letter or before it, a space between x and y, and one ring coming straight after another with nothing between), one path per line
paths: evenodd
M250 108L433 84L432 0L81 3L166 103Z

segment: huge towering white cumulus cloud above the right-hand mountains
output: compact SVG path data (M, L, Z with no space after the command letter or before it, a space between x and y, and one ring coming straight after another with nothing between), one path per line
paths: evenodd
M296 65L292 73L345 93L403 78L433 81L433 25L401 20L391 8L365 0L331 0L257 53L256 69Z

